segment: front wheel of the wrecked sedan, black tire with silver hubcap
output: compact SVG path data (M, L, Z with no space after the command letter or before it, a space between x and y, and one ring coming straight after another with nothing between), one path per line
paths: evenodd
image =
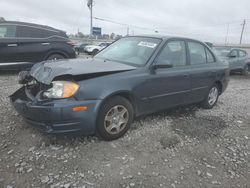
M115 96L103 103L97 117L97 135L106 141L122 137L134 119L132 104Z

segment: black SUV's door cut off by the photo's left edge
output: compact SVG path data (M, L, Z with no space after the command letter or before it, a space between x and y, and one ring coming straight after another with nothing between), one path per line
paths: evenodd
M18 62L16 26L0 24L0 63Z

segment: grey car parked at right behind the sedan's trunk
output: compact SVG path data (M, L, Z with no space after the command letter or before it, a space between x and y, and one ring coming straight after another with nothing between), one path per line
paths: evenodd
M243 75L250 74L250 56L245 50L238 48L214 48L217 55L229 62L231 72L241 72Z

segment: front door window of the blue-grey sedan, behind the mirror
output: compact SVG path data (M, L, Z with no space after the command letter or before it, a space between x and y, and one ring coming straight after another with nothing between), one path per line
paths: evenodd
M157 58L157 64L170 64L173 67L186 65L186 47L184 41L168 42Z

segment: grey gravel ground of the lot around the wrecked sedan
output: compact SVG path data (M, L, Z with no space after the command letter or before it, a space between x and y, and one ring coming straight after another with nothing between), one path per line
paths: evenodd
M142 117L117 141L41 134L7 98L0 73L0 187L250 187L250 77L233 75L213 110Z

